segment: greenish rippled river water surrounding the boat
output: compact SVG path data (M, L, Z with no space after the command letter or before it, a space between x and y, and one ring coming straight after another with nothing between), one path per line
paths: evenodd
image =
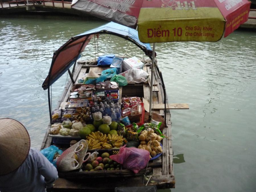
M0 19L0 117L23 123L31 147L40 149L49 123L42 83L53 52L104 23ZM110 51L106 54L124 54L129 46L108 37L98 43L101 53ZM131 48L127 53L136 55ZM156 52L169 103L190 107L171 110L176 178L171 191L255 191L256 33L237 30L219 42L156 44ZM82 55L87 57L95 57L94 46ZM67 78L66 73L52 86L53 108Z

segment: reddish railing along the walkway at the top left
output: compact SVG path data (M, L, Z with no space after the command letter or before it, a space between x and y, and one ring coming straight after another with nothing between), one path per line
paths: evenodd
M4 1L4 2L3 2ZM51 2L52 3L52 7L55 7L54 3L62 3L62 8L64 8L64 4L71 4L71 1L64 1L64 0L60 0L60 1L54 1L54 0L0 0L1 3L1 8L9 8L9 7L18 7L18 6L24 6L24 5L28 5L28 6L34 6L36 4L41 5L43 4L45 6L46 2ZM9 4L9 6L4 6ZM11 6L11 4L16 4L16 6ZM48 5L47 5L48 6Z

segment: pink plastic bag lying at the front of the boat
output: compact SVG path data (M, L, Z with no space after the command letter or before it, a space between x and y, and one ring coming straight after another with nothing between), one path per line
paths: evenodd
M119 149L117 155L111 155L110 159L113 159L117 163L123 164L124 169L132 170L134 173L138 173L141 169L144 169L149 161L149 151L144 149L138 149L136 147L122 146Z

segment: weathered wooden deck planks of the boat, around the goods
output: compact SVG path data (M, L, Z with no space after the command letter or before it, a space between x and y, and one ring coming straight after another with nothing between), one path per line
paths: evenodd
M151 74L151 60L144 61L144 71ZM87 63L78 63L76 67L75 74L73 76L74 80L77 82L78 78L82 77L85 73L93 70L97 74L107 68L98 67L97 65L87 65ZM150 77L148 78L150 79ZM125 87L119 88L119 102L121 98L125 95L127 96L139 96L144 98L144 102L149 100L150 95L150 80L145 83L129 83ZM65 90L61 99L59 100L56 109L59 108L61 102L66 102L69 99L69 92L72 88L73 83L71 80L67 82ZM159 74L155 72L155 82L153 83L153 112L160 115L164 115L164 104L163 104L163 87L160 80ZM168 101L167 101L168 103ZM157 106L157 109L154 108ZM166 104L168 109L188 109L187 104ZM145 105L145 110L147 111L147 105ZM52 137L48 136L48 131L50 125L48 126L44 141L42 143L41 149L49 147L52 145ZM173 173L173 148L172 148L172 129L171 129L171 114L167 110L166 114L166 127L163 129L162 133L167 136L162 141L163 153L162 155L153 160L148 164L148 168L152 170L150 176L144 178L144 174L133 177L123 177L121 174L118 177L111 178L106 176L104 178L83 178L81 172L71 172L69 176L61 176L54 183L54 191L114 191L115 187L139 187L145 185L156 185L158 189L174 188L175 187L175 177ZM58 145L57 145L58 146ZM61 146L58 146L61 148ZM64 177L64 178L63 178ZM100 185L99 185L100 184Z

